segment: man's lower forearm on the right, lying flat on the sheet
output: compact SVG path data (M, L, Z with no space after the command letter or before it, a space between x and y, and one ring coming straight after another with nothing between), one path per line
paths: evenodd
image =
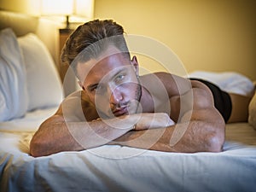
M166 152L221 151L223 141L218 139L221 133L216 132L212 123L206 124L202 121L192 121L167 128L129 131L109 144Z

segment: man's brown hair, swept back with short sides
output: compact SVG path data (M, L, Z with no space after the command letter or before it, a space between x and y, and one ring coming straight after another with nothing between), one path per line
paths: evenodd
M130 54L124 38L124 29L113 20L92 20L79 26L62 49L61 63L68 64L77 74L78 62L99 56L112 44L125 55Z

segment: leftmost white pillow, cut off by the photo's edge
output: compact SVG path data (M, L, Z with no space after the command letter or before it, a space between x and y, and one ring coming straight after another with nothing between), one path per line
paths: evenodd
M0 32L0 44L0 121L5 121L26 113L26 70L10 28Z

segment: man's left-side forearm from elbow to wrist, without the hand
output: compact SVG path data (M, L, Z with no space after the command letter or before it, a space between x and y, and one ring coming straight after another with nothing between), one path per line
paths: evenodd
M135 119L128 117L92 122L65 122L61 116L53 116L33 136L31 154L43 156L98 147L131 131L135 122Z

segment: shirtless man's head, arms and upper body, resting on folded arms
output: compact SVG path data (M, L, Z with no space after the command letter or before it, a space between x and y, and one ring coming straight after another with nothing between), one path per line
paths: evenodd
M214 106L215 88L201 81L170 73L139 77L137 57L131 58L123 33L113 20L93 20L67 40L61 59L73 67L83 90L67 96L40 125L30 145L32 156L104 144L220 152L230 97L217 103L228 106L221 111Z

